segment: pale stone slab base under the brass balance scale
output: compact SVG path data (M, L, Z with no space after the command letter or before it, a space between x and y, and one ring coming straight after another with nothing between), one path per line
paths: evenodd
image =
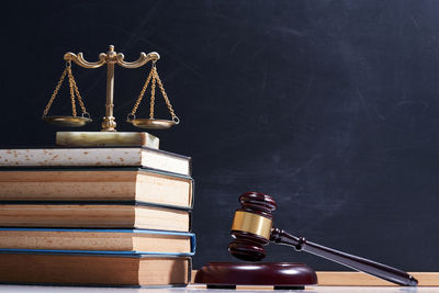
M158 149L159 138L149 133L57 132L56 145L66 147L135 146Z

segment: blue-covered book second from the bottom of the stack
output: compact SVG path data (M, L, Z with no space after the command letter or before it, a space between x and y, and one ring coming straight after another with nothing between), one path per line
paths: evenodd
M181 257L194 255L195 235L148 229L0 228L0 251L4 250Z

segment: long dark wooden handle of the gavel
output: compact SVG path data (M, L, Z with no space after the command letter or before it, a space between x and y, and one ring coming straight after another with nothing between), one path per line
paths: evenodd
M402 270L307 241L303 237L295 237L282 229L272 228L270 241L292 246L297 251L306 251L399 285L416 286L418 284L413 275Z

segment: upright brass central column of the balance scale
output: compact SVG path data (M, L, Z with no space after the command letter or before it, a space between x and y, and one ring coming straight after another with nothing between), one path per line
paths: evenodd
M106 53L106 102L105 102L105 116L102 122L101 132L115 132L116 122L113 116L113 95L114 95L114 64L116 63L116 53L114 46L110 46Z

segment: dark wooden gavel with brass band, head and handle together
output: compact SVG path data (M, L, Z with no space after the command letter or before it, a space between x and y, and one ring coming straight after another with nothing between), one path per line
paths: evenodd
M239 259L261 260L266 257L262 246L272 241L292 246L297 251L306 251L399 285L416 286L418 284L414 277L402 270L314 244L304 237L296 237L272 227L271 213L277 204L269 195L247 192L239 196L239 202L241 209L236 210L232 224L232 237L235 239L228 245L228 251Z

